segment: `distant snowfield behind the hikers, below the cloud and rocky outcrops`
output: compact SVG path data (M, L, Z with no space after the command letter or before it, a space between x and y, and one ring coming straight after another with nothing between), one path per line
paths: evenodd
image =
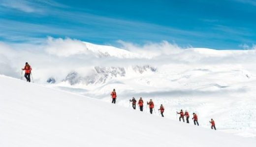
M221 131L256 138L256 77L251 76L252 70L238 64L170 64L155 72L124 68L125 76L107 79L104 84L47 86L104 101L109 101L109 93L115 88L119 105L129 107L132 97L145 101L152 98L157 108L164 105L169 119L176 120L180 109L188 110L191 115L198 114L202 127L208 128L209 119L214 118Z

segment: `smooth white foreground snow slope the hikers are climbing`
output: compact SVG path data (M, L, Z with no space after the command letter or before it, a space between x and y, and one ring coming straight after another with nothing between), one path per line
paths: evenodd
M256 140L0 75L0 147L155 146L256 147Z

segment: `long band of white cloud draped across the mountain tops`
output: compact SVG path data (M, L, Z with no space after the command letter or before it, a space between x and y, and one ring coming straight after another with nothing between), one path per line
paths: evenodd
M45 82L49 77L61 81L71 71L87 76L95 66L128 68L135 65L218 66L230 63L247 66L256 63L256 45L252 47L254 50L211 50L183 49L167 41L145 45L119 43L127 50L87 46L80 40L52 37L37 44L0 43L0 69L5 69L0 70L0 74L19 78L25 62L32 65L37 82Z

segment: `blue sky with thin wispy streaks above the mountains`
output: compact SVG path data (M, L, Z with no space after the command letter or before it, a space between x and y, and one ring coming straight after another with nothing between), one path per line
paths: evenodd
M255 18L256 0L0 0L0 41L38 43L52 36L250 49Z

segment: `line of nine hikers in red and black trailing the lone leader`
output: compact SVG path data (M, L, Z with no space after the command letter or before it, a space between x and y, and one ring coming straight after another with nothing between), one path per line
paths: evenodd
M115 90L115 89L114 89L113 92L111 93L111 96L112 96L112 103L116 103L117 94L116 94L116 90ZM132 102L132 108L133 108L133 109L136 109L137 100L136 100L134 97L132 97L132 99L129 99L129 101ZM139 106L140 111L143 111L143 103L144 103L144 102L143 102L142 98L139 98L139 101L138 101L137 104L138 104L138 106ZM154 111L155 111L155 108L154 108L155 105L154 105L154 102L152 101L152 99L150 99L149 102L147 101L147 105L149 105L149 111L150 111L150 113L152 114L152 113L153 113L153 109L154 109ZM163 116L164 107L163 107L162 104L160 105L160 108L158 109L158 111L160 112L161 116L164 117L164 116ZM156 111L155 111L155 113L156 113ZM190 122L189 122L190 114L189 114L189 112L188 112L187 110L185 111L185 113L183 112L183 110L181 110L180 112L176 112L176 113L177 113L177 114L180 114L180 118L179 118L180 122L181 122L181 119L183 120L183 122L185 122L185 120L184 120L184 116L185 116L187 123L190 123ZM196 125L196 124L199 125L199 123L198 123L198 118L197 118L197 114L196 114L196 113L193 113L193 118L192 118L192 120L193 120L193 122L194 122L194 125ZM214 129L216 130L215 122L214 122L213 119L211 119L210 123L211 123L211 128L212 128L212 129L214 128Z

